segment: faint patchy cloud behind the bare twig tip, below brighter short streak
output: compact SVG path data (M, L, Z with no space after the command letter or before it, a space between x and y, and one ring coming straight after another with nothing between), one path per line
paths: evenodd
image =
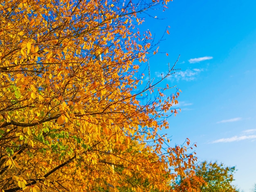
M168 80L186 80L191 81L196 78L197 75L200 74L200 72L203 71L203 69L186 69L185 71L175 71L174 74L168 76ZM157 77L163 77L164 72L156 72L155 75Z

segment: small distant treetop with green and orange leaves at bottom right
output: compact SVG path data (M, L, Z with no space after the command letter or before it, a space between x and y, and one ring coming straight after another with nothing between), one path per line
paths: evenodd
M188 192L238 192L231 182L235 167L225 167L222 163L203 161L174 185L177 191ZM183 190L180 190L183 189Z

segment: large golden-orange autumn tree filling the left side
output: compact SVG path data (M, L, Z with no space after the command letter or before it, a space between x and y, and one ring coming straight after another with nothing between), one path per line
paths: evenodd
M193 165L158 134L179 92L139 87L135 62L157 52L137 13L168 1L1 1L2 190L162 191Z

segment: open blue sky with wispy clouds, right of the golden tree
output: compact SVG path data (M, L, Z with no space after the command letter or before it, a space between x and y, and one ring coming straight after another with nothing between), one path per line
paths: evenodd
M196 142L200 161L236 166L234 185L251 192L256 183L256 1L173 0L169 9L151 10L141 29L161 38L150 58L151 76L182 90L182 109L168 119L171 144ZM165 53L169 56L166 56ZM171 90L170 94L175 90ZM168 93L167 93L168 94Z

